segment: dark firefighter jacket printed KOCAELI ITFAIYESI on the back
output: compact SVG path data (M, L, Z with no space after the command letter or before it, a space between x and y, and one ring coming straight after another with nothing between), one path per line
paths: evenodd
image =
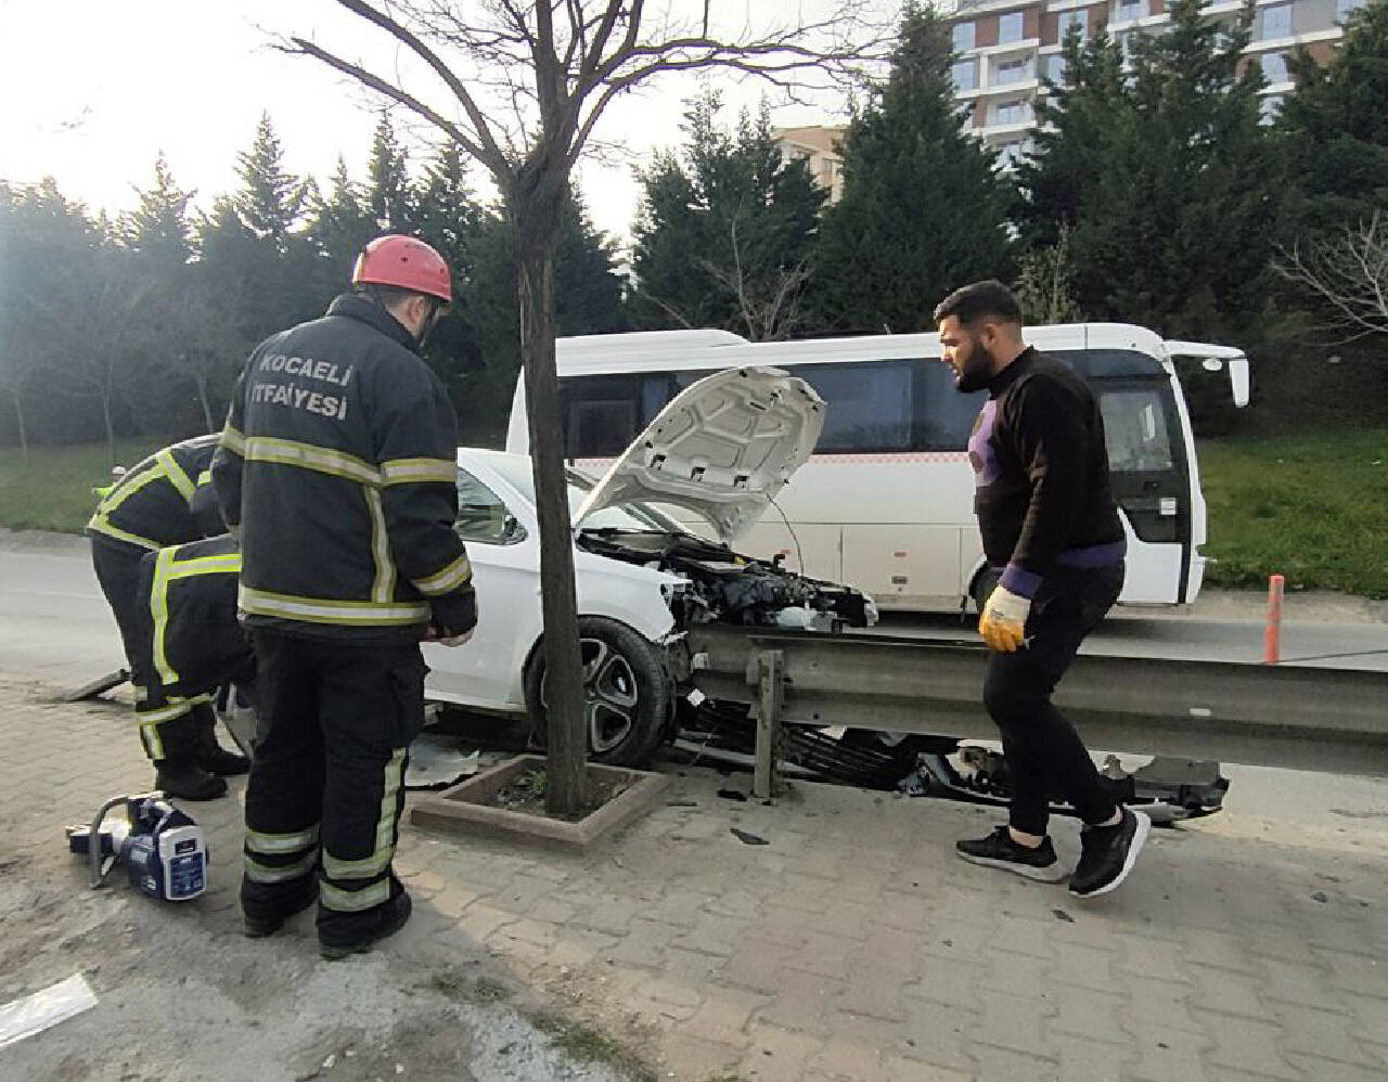
M414 340L366 297L261 343L212 459L240 533L250 627L336 639L418 639L476 623L454 531L457 422Z

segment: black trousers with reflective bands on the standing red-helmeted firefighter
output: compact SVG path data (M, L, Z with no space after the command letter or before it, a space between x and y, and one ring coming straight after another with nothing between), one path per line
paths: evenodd
M391 874L408 748L423 727L416 642L254 630L260 742L246 788L242 909L273 918L318 892L318 935L351 945L401 892Z

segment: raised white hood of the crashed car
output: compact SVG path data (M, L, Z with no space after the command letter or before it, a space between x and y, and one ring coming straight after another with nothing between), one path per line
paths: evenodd
M612 463L573 513L644 501L705 517L725 542L744 537L815 449L824 400L775 368L716 372L682 391Z

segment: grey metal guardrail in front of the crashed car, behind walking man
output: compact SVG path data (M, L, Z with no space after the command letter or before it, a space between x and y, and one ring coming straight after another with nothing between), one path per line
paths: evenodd
M688 649L701 692L770 706L758 744L777 723L998 738L981 644L708 624ZM1388 673L1081 655L1055 702L1091 750L1388 775Z

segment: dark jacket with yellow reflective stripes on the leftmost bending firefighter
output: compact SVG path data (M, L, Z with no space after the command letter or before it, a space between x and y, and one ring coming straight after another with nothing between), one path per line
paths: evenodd
M162 548L225 531L208 467L219 436L155 451L104 491L87 533L137 548Z

